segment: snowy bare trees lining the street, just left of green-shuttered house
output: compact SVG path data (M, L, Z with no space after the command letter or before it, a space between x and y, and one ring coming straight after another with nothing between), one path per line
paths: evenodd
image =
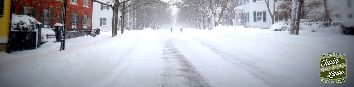
M227 5L233 0L170 0L170 3L177 6L177 21L186 27L199 27L205 29L205 21L210 24L213 17L214 25L219 21L227 9ZM231 4L232 5L232 4ZM207 20L206 20L207 19ZM230 20L231 21L231 20ZM210 27L208 27L210 29Z

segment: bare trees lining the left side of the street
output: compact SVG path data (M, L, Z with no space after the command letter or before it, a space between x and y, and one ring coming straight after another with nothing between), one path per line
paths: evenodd
M140 14L147 14L149 15L150 13L148 13L148 11L155 11L157 10L157 7L154 6L166 6L165 2L163 0L91 0L93 2L98 2L99 4L103 4L103 5L107 5L109 7L112 8L113 11L113 20L112 20L112 37L117 35L117 31L118 31L118 21L119 21L119 15L118 15L118 11L121 12L121 30L120 33L124 33L124 21L125 21L125 16L129 16L126 15L127 12L131 12L131 11L135 11L138 12ZM144 7L143 7L144 6ZM148 8L152 8L152 9L148 9ZM156 9L155 9L156 8ZM168 7L166 7L168 8ZM162 20L167 20L166 18L162 18L162 19L158 19L160 16L158 15L162 15L162 13L164 13L163 11L166 11L168 9L162 9L160 11L161 14L156 14L158 11L155 11L156 13L156 17L154 18L155 22L151 23L151 24L160 24ZM143 20L144 22L140 22L139 26L141 26L141 24L145 24L145 21L150 21L146 19L146 16L144 15L144 19L142 19L142 16L139 16L139 20Z

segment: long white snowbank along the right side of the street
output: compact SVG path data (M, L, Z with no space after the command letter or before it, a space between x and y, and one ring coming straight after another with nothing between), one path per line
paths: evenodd
M289 35L288 31L270 29L217 26L206 33L188 33L192 36L214 38L236 45L256 49L282 58L318 65L321 54L342 53L354 58L354 36L338 33L299 31ZM354 66L353 66L354 67Z

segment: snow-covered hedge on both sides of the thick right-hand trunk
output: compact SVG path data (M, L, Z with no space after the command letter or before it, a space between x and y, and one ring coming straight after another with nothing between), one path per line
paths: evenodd
M339 22L309 22L306 19L300 20L299 31L309 31L309 32L325 32L325 33L344 33L345 23L343 21ZM273 24L271 26L272 31L289 31L290 22L280 22ZM349 28L348 28L349 29ZM350 30L348 30L350 32Z

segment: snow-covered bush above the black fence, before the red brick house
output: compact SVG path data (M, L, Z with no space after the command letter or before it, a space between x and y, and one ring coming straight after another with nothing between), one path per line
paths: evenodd
M12 14L11 30L18 31L34 31L36 29L37 20L27 15Z

